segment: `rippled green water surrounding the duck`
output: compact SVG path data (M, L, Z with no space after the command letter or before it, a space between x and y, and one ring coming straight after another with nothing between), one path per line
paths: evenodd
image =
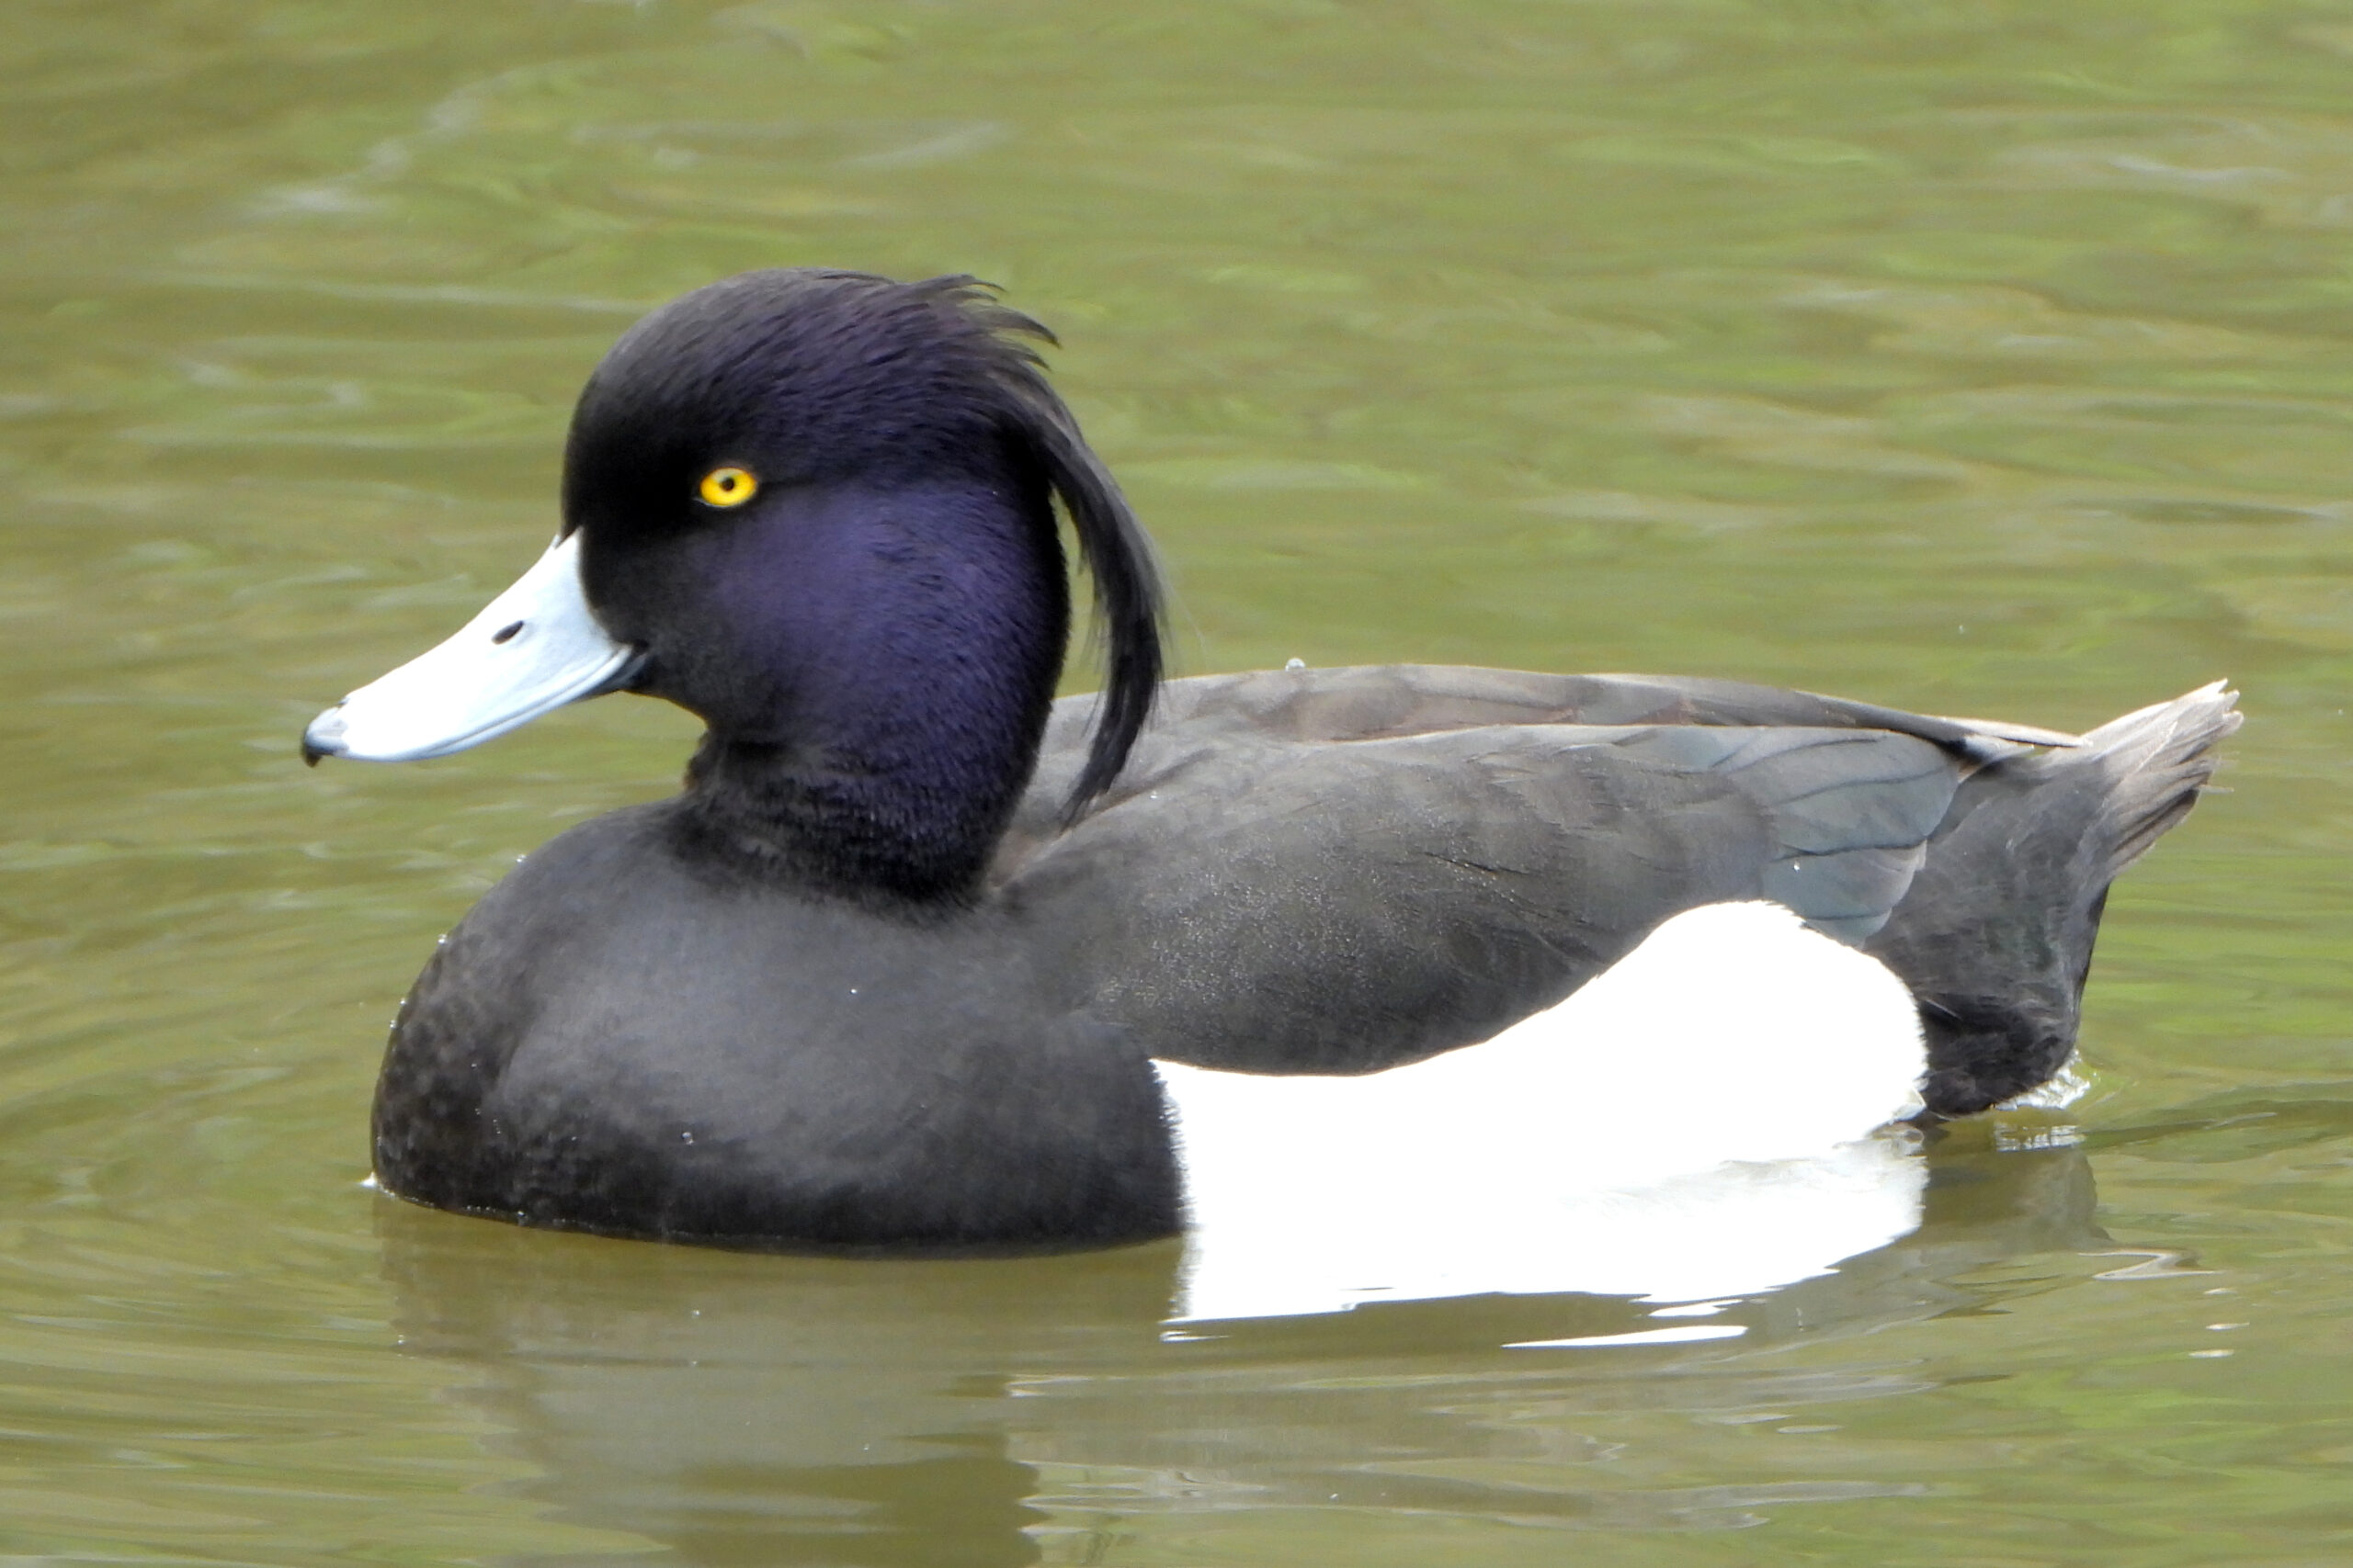
M2353 1554L2353 5L16 0L0 52L0 1563ZM304 719L539 550L633 313L972 270L1191 670L2217 675L2089 1095L1732 1307L1165 1340L1176 1248L856 1265L360 1187L384 1025L607 701Z

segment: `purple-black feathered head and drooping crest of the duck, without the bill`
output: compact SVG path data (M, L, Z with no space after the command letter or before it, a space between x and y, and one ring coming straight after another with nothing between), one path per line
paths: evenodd
M605 357L574 414L565 527L586 529L598 616L654 649L664 696L704 712L715 743L826 745L859 769L904 771L939 811L960 780L995 816L1035 759L1068 639L1059 496L1108 630L1101 719L1071 811L1118 776L1160 679L1158 574L1021 339L1052 341L969 277L769 270L664 306ZM744 463L762 487L725 522L682 503L715 463ZM685 576L664 559L673 548L701 555L708 529L748 529L786 496L816 534L840 538L824 550L720 545L762 564ZM871 503L859 517L842 510L859 510L852 496ZM915 508L925 517L901 503L913 496L929 496ZM758 588L720 588L739 576ZM727 609L701 595L725 595ZM729 675L718 654L736 644L746 663ZM845 745L852 710L864 717ZM986 788L972 755L922 748L969 752L1009 715L1031 733Z

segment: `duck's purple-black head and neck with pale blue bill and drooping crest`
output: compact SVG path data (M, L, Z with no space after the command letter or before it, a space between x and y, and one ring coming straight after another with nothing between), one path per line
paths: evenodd
M1073 813L1160 679L1151 550L1028 339L1052 341L969 277L744 273L664 306L581 393L539 564L304 755L445 757L642 691L711 726L689 816L722 851L969 889L1068 646L1056 496L1108 644Z

